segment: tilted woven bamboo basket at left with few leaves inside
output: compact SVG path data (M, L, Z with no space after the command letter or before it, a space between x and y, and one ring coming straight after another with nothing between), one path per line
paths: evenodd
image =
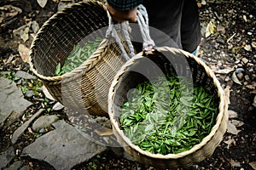
M118 45L110 38L105 38L82 65L62 76L54 76L56 65L64 65L74 44L104 38L107 29L104 3L88 0L53 15L32 42L29 59L32 72L57 101L73 111L108 116L108 88L125 63Z

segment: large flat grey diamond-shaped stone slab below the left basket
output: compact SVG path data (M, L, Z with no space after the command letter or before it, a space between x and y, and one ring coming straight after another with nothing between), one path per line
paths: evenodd
M44 134L22 150L22 156L46 161L55 169L71 169L106 150L89 135L61 120L53 124L55 130Z

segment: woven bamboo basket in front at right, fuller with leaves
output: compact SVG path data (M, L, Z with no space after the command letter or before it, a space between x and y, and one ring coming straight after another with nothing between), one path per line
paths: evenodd
M108 94L108 114L113 127L113 134L119 144L136 161L160 169L189 167L195 162L211 156L223 138L228 121L228 105L225 102L224 90L207 65L193 54L181 49L167 47L157 48L157 51L149 54L143 52L137 54L127 61L114 77ZM153 65L145 64L148 59L153 62ZM184 61L189 64L189 68L188 65L183 64ZM127 100L127 93L131 88L136 88L137 83L145 81L145 75L157 75L157 73L155 74L157 68L161 68L165 74L176 71L179 75L189 76L192 72L193 82L203 85L218 99L218 116L211 132L201 140L200 144L178 154L161 155L141 150L137 145L132 144L131 140L119 128L119 109Z

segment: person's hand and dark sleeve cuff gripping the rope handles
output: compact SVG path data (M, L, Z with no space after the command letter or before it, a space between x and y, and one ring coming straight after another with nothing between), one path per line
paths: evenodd
M142 0L108 0L106 6L113 20L118 22L137 22L137 6Z

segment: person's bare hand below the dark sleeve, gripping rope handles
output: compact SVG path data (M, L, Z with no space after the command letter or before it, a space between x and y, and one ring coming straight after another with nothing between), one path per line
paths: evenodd
M106 3L106 7L111 14L113 20L116 20L118 22L137 22L137 7L132 8L130 10L117 10L115 8L112 8L108 3Z

